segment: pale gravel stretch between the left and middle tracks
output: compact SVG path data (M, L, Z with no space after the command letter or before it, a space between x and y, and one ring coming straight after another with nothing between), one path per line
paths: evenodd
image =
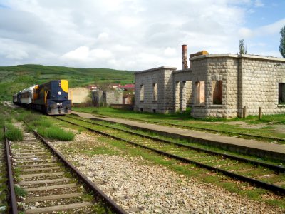
M140 157L87 155L95 146L110 145L85 132L78 133L73 142L52 144L128 213L284 213L216 185L151 165ZM71 152L70 148L78 150ZM83 148L85 154L79 153Z

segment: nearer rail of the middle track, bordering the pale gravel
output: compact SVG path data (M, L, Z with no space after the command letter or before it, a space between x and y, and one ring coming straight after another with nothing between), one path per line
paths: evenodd
M261 187L261 188L264 188L264 189L267 189L267 190L271 190L271 191L274 192L274 193L278 193L278 194L281 194L281 195L285 195L285 188L281 188L281 187L279 187L279 186L277 186L277 185L272 185L272 184L269 184L269 183L265 183L265 182L263 182L263 181L256 180L256 179L254 179L254 178L249 178L249 177L246 177L246 176L243 176L243 175L239 175L239 174L236 174L236 173L229 172L229 171L227 171L227 170L222 170L222 169L220 169L220 168L215 168L215 167L213 167L213 166L206 165L206 164L204 164L204 163L199 163L199 162L197 162L197 161L192 161L192 160L187 159L187 158L182 158L182 157L180 157L180 156L175 156L175 155L172 155L172 154L170 154L170 153L166 153L166 152L164 152L164 151L157 150L157 149L155 149L155 148L150 148L150 147L148 147L148 146L140 145L139 143L135 143L135 142L133 142L133 141L128 141L128 140L125 140L125 139L123 139L123 138L119 138L119 137L116 137L116 136L112 136L112 135L110 135L110 134L108 134L108 133L105 133L105 132L103 132L103 131L97 131L97 130L94 130L94 129L92 129L92 128L88 128L88 127L86 127L86 126L78 125L78 124L73 123L73 122L71 122L71 121L63 120L62 118L58 118L58 120L60 120L60 121L65 121L65 122L67 122L67 123L71 123L71 124L73 124L73 125L75 125L75 126L80 126L80 127L86 128L88 131L95 132L95 133L100 133L100 134L102 134L103 136L108 136L108 137L114 138L114 139L116 139L116 140L118 140L118 141L124 141L124 142L126 142L126 143L130 143L130 144L133 145L133 146L139 146L139 147L141 147L141 148L145 148L145 149L147 149L147 150L154 151L155 153L159 153L159 154L161 154L161 155L163 155L163 156L167 156L167 157L169 157L169 158L175 158L176 160L182 161L182 162L184 162L184 163L195 164L195 165L197 165L197 166L199 166L199 167L206 168L206 169L208 169L208 170L212 170L212 171L217 172L217 173L222 173L222 174L224 174L224 175L229 176L230 178L234 178L234 179L237 179L237 180L242 180L242 181L244 181L244 182L251 183L251 184L253 184L253 185L256 185L257 187Z

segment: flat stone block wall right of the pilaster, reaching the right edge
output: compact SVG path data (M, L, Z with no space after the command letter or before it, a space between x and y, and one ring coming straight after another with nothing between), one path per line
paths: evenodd
M257 115L259 107L264 114L285 113L285 105L279 104L279 83L285 83L285 59L242 55L239 65L242 67L240 108L246 106L247 115Z

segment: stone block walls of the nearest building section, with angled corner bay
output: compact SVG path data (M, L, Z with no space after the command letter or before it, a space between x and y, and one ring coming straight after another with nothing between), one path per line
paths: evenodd
M284 64L282 58L252 55L211 54L193 58L192 78L205 81L205 103L201 106L195 102L192 116L234 118L242 116L244 106L247 115L257 115L259 107L264 114L285 113L285 105L278 103L279 83L285 78ZM219 105L213 103L213 86L217 81L222 81ZM195 85L193 91L196 101Z

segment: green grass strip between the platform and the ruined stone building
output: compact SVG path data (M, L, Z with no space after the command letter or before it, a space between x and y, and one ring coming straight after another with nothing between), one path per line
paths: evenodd
M229 136L239 136L242 138L252 138L241 136L250 134L265 138L281 138L285 140L285 114L264 115L261 120L258 116L248 116L247 118L233 119L195 119L190 116L188 109L184 113L145 113L114 108L73 108L73 111L83 111L93 113L94 115L112 116L117 118L127 118L146 123L159 123L167 126L183 126L183 128L194 129L198 131L214 131ZM283 131L282 131L283 130ZM253 137L254 138L254 137ZM259 138L257 138L259 139ZM270 141L270 140L267 140ZM283 143L280 141L279 143Z

